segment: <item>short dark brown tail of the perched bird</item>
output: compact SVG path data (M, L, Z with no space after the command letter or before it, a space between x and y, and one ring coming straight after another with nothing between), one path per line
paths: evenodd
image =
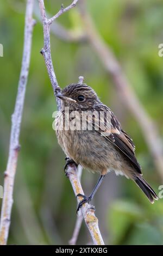
M152 204L154 203L154 199L159 199L152 187L149 186L149 184L142 178L142 176L136 176L134 181L136 182L137 186L139 186L140 189L146 194Z

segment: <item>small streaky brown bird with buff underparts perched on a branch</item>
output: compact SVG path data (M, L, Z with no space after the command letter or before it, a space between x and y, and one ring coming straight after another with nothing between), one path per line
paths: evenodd
M62 89L57 97L61 100L61 110L55 117L55 132L67 161L100 174L89 197L77 195L83 197L77 212L84 203L90 203L105 175L111 171L133 180L151 203L158 200L153 188L142 177L133 140L95 90L85 83L73 83Z

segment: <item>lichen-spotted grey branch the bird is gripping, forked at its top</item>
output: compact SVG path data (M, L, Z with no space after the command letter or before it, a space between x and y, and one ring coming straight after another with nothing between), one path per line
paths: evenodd
M69 7L65 8L64 10L70 10L74 7L74 4L76 4L77 1L73 1ZM62 13L65 13L65 11L59 11L59 13L55 16L53 16L52 20L48 20L45 12L45 5L43 0L39 0L40 5L40 12L41 12L41 19L43 24L43 38L44 38L44 46L41 50L41 53L43 54L43 57L45 59L45 64L47 67L48 75L52 83L53 92L54 95L57 95L57 93L60 91L60 87L57 82L57 78L55 76L53 63L52 63L52 57L51 57L51 46L50 46L50 24L51 21L54 19L57 19ZM57 98L57 107L58 110L61 109L60 100ZM80 184L78 174L77 174L77 168L74 164L69 164L67 167L66 172L68 178L70 179L71 185L73 187L73 191L75 195L77 196L78 193L83 193L82 186ZM80 202L82 200L82 197L78 197L77 200ZM85 223L90 231L93 243L95 245L104 245L101 233L99 231L98 227L98 219L95 216L95 210L90 208L90 205L88 203L83 204L82 208L82 214L84 216Z

